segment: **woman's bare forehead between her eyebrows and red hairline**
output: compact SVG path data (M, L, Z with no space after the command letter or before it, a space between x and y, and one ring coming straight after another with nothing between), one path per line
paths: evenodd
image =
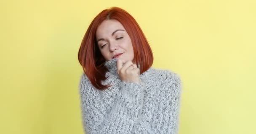
M111 34L117 30L123 29L123 25L117 20L104 20L96 30L96 37L100 38L102 36L111 36Z

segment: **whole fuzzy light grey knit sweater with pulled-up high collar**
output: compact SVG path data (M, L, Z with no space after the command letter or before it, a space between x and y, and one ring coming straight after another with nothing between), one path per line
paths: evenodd
M96 89L83 73L79 91L86 134L178 134L181 79L170 70L150 67L141 84L122 81L117 59L105 62L106 90Z

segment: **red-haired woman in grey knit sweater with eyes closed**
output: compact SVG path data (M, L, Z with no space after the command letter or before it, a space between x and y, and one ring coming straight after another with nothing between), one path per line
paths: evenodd
M78 59L86 134L177 134L181 80L152 68L141 28L125 10L103 10L91 22Z

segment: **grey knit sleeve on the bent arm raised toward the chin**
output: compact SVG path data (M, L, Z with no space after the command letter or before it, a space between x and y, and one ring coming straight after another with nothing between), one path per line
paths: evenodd
M131 134L143 106L145 85L120 81L115 101L107 110L104 99L84 75L80 82L83 125L86 134ZM113 85L114 86L114 85Z

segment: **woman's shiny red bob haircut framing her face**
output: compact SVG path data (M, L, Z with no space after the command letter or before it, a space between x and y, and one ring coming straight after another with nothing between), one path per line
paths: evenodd
M83 67L85 75L87 75L92 85L99 90L105 90L111 85L101 84L102 80L107 79L105 76L107 68L104 66L106 60L102 56L96 42L96 30L104 20L111 19L119 21L130 36L133 46L134 61L137 67L139 67L138 64L140 65L140 74L147 71L153 64L152 50L135 19L121 8L112 7L105 9L91 22L83 37L78 52L78 60Z

